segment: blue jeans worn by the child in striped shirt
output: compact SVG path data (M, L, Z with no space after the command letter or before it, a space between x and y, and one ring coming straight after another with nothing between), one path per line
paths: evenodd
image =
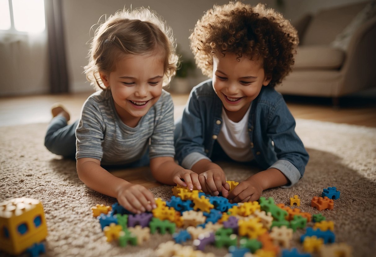
M62 116L53 118L47 127L44 138L45 147L53 154L62 155L65 158L76 158L76 127L79 120L68 125L67 120ZM137 161L127 163L121 167L149 166L149 149Z

